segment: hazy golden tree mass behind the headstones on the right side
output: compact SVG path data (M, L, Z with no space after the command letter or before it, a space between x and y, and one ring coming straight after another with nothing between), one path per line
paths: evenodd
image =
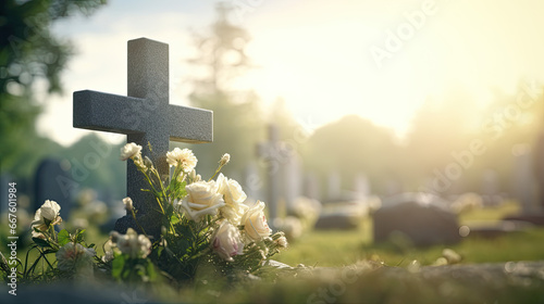
M516 156L536 152L542 134L542 89L521 83L514 94L495 92L493 102L483 109L475 107L460 89L447 98L429 99L401 143L388 129L348 115L311 135L302 150L305 165L322 177L339 173L346 190L353 189L356 174L366 174L374 193L388 194L391 181L404 191L420 191L437 174L446 175L448 165L457 164L461 173L450 187L430 190L441 195L481 192L483 176L492 172L498 191L512 193ZM482 145L480 154L470 152L474 141Z

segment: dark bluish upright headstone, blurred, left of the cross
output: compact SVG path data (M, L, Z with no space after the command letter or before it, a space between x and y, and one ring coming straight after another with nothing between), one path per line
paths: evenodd
M30 213L34 214L46 200L55 201L61 206L62 218L66 220L73 204L71 189L64 187L70 180L69 168L54 159L45 159L38 165L34 177L34 201Z

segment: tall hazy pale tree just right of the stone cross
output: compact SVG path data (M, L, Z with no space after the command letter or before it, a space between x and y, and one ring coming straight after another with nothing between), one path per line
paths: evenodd
M213 111L213 143L191 147L200 160L198 170L205 176L211 176L223 153L232 155L225 173L242 173L256 159L255 145L264 130L257 94L235 88L236 77L251 68L245 53L249 35L231 23L226 4L219 3L217 12L218 21L210 33L195 34L198 53L189 60L199 75L190 79L189 100L195 106Z

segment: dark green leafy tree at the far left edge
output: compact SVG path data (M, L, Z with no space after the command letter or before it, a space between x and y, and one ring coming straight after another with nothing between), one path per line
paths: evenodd
M62 92L60 75L72 54L70 42L50 28L75 13L91 14L106 0L4 0L0 4L0 144L1 172L28 177L41 155L59 145L36 135L41 109L38 85ZM39 147L40 149L36 149ZM30 153L32 152L32 153Z

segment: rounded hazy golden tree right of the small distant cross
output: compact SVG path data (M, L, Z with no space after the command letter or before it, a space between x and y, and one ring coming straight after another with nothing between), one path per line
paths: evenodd
M391 130L349 115L317 129L307 142L304 159L306 167L318 173L323 181L337 173L343 189L353 189L354 178L364 174L373 191L385 193L387 182L400 178L400 162L406 160L399 159L399 152Z

